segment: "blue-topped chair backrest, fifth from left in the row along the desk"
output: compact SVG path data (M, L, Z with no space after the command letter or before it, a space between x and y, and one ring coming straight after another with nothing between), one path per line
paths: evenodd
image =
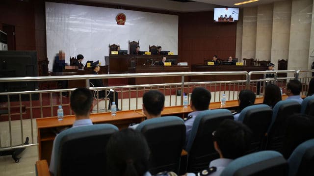
M273 108L271 125L267 130L267 150L282 152L283 139L286 135L286 119L294 114L300 113L301 104L294 100L283 100L277 102Z

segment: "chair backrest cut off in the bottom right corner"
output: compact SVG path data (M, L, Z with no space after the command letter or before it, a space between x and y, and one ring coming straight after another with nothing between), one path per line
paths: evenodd
M289 176L313 176L314 139L300 144L288 159Z

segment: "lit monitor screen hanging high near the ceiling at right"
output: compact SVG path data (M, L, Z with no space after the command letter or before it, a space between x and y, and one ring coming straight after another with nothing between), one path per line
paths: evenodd
M215 22L235 22L239 20L239 8L215 8Z

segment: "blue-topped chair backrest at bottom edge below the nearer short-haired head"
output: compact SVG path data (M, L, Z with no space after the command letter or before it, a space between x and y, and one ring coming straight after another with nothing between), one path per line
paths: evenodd
M259 151L228 164L220 176L287 176L288 163L277 151Z

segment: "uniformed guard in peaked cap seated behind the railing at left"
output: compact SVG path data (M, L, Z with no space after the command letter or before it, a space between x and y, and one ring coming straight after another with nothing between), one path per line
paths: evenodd
M92 75L98 75L100 71L99 61L93 62L91 64L92 67ZM94 85L94 87L104 87L103 79L90 79L90 82ZM98 98L105 98L105 91L98 91ZM113 99L113 93L115 94L115 99ZM109 95L107 94L107 98L110 99L110 104L108 109L110 109L112 102L115 102L118 108L118 93L114 91L110 91Z

